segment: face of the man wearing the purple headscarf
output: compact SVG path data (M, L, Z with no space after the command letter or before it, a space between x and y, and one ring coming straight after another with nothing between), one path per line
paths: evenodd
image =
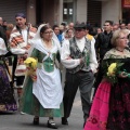
M20 27L20 28L22 28L22 29L24 29L26 26L25 26L25 24L26 24L26 18L23 18L23 17L21 17L21 16L17 16L17 17L15 17L15 21L16 21L16 25Z

